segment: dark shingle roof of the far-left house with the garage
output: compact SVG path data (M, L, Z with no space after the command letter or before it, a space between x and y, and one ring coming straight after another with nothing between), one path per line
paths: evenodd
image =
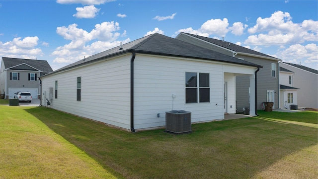
M31 60L31 59L2 57L2 62L5 69L24 63L42 72L53 72L51 66L46 60Z

